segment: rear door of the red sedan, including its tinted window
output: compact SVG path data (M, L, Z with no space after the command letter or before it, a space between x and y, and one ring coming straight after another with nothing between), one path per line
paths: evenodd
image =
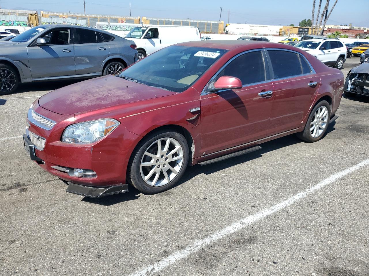
M269 49L267 53L273 70L271 136L301 126L314 102L320 77L300 53L281 49Z

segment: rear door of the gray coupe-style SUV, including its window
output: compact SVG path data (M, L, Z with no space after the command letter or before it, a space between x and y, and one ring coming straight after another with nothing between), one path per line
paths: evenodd
M84 29L74 29L74 55L76 75L101 73L101 65L109 56L110 49L100 32Z

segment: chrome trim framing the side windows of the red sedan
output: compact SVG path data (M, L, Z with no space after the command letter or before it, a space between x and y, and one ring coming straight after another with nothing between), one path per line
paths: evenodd
M273 73L273 68L271 66L271 61L269 59L269 55L268 55L268 50L277 50L277 51L286 51L286 52L292 52L292 53L296 53L296 54L299 54L300 57L303 57L303 59L307 62L307 64L310 66L310 69L311 69L311 72L310 73L306 73L306 74L300 74L300 75L293 75L293 76L289 76L289 77L284 77L284 78L274 78L274 74ZM236 59L237 57L243 55L243 54L246 54L246 53L249 53L249 52L255 52L255 51L261 51L263 53L263 57L265 60L265 70L267 70L269 68L269 77L270 79L267 79L265 81L261 81L261 82L254 82L252 84L245 84L245 85L242 85L242 88L244 87L247 87L247 86L252 86L252 85L258 85L258 84L265 84L266 82L272 82L272 81L279 81L279 80L283 80L283 79L289 79L289 78L295 78L295 77L302 77L302 76L308 76L308 75L313 75L313 74L316 74L313 66L311 66L310 62L307 60L307 58L299 53L299 52L296 52L296 51L293 51L293 50L289 50L289 49L282 49L282 48L259 48L259 49L252 49L252 50L247 50L247 51L244 51L242 53L239 53L237 54L236 56L232 57L230 60L227 61L227 63L225 63L215 74L213 77L211 77L211 79L208 81L208 83L204 86L203 90L201 91L201 94L200 96L203 96L203 95L208 95L208 94L211 94L211 93L215 93L215 92L222 92L222 91L227 91L229 89L224 89L224 90L218 90L218 91L210 91L210 92L206 92L206 88L208 87L208 85L210 84L210 82L212 82L214 80L215 77L217 77L217 75L229 64L231 63L234 59ZM301 68L302 69L302 68ZM266 72L266 75L268 75L268 72Z

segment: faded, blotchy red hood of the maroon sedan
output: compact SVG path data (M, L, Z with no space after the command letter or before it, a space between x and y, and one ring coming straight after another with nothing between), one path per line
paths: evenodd
M56 89L41 96L38 104L58 114L72 115L173 94L108 75Z

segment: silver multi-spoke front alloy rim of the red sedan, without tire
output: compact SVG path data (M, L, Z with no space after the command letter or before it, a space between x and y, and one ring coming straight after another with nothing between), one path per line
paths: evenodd
M140 163L146 184L159 187L175 179L182 169L183 149L176 139L160 138L145 150Z

